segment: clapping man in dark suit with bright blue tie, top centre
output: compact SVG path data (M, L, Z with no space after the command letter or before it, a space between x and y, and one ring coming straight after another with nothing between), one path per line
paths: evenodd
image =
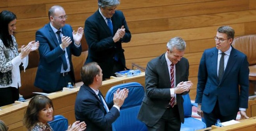
M131 33L123 12L116 10L119 0L98 0L99 9L85 21L88 57L85 63L97 62L103 79L125 70L122 42L130 42Z

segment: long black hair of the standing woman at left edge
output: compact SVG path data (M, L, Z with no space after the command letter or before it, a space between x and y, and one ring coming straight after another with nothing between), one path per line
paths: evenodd
M0 13L0 39L5 47L10 48L13 45L12 35L9 34L8 24L16 19L16 15L8 10Z

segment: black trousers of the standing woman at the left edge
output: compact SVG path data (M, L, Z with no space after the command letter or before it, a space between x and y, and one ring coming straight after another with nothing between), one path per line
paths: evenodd
M19 99L19 87L0 88L0 106L12 104Z

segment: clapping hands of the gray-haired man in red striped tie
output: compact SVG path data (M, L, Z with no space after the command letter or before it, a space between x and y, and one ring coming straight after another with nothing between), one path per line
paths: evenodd
M184 81L184 82L182 81L176 86L176 88L174 88L174 93L181 94L185 91L189 91L192 86L193 86L193 83L191 81Z

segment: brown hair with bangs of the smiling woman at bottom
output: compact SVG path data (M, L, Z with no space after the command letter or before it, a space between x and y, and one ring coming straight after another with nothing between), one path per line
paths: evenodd
M44 95L34 96L28 104L26 111L24 112L23 124L27 129L33 128L33 126L38 122L38 113L44 109L47 105L51 105L54 109L52 100Z

